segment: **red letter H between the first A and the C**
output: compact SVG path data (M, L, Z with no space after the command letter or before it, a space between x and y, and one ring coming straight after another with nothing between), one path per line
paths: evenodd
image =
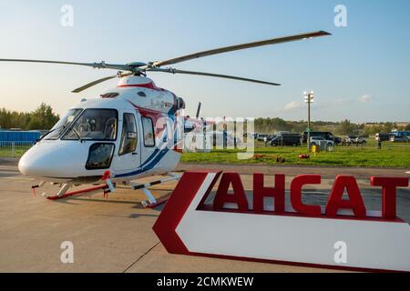
M263 212L263 197L273 197L274 211L284 213L285 176L275 175L275 186L265 187L263 174L253 174L253 211Z

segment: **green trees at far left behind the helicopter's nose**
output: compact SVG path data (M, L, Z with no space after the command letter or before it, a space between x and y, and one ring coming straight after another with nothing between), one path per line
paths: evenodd
M10 111L5 108L0 109L0 128L11 129L20 128L24 130L47 130L60 119L60 116L53 112L50 105L42 103L32 112Z

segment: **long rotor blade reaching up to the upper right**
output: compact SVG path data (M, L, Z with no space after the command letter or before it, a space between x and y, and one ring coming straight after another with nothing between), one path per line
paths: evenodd
M179 57L171 58L166 61L153 62L152 65L157 66L157 67L162 66L162 65L173 65L173 64L186 62L186 61L189 61L195 58L208 56L208 55L228 53L228 52L233 52L233 51L237 51L241 49L262 46L262 45L277 45L277 44L282 44L282 43L287 43L287 42L292 42L292 41L297 41L297 40L302 40L302 39L308 39L308 38L313 38L313 37L318 37L318 36L324 36L324 35L331 35L331 34L321 30L318 32L313 32L313 33L272 38L272 39L262 40L259 42L253 42L253 43L248 43L248 44L243 44L243 45L231 45L231 46L220 47L220 48L211 49L211 50L203 51L199 53L194 53L190 55L182 55Z

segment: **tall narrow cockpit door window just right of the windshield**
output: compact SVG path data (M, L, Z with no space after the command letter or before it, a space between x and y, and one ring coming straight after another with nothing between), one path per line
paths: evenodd
M141 164L141 146L138 144L138 125L134 113L122 116L116 170L135 170Z

